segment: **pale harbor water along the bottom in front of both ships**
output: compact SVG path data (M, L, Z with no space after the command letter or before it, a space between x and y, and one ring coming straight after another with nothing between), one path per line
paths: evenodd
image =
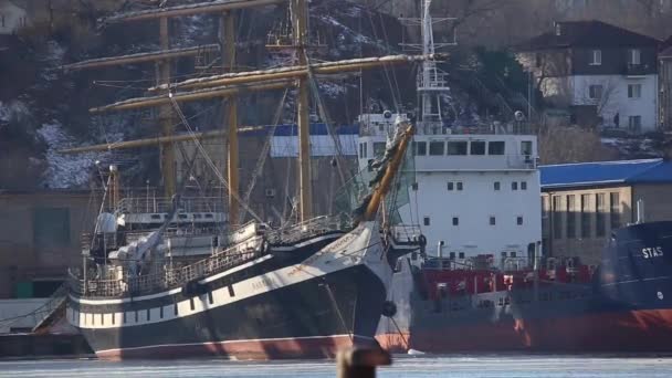
M379 377L670 377L672 356L395 356ZM0 363L0 377L335 377L334 361L252 363L21 360Z

